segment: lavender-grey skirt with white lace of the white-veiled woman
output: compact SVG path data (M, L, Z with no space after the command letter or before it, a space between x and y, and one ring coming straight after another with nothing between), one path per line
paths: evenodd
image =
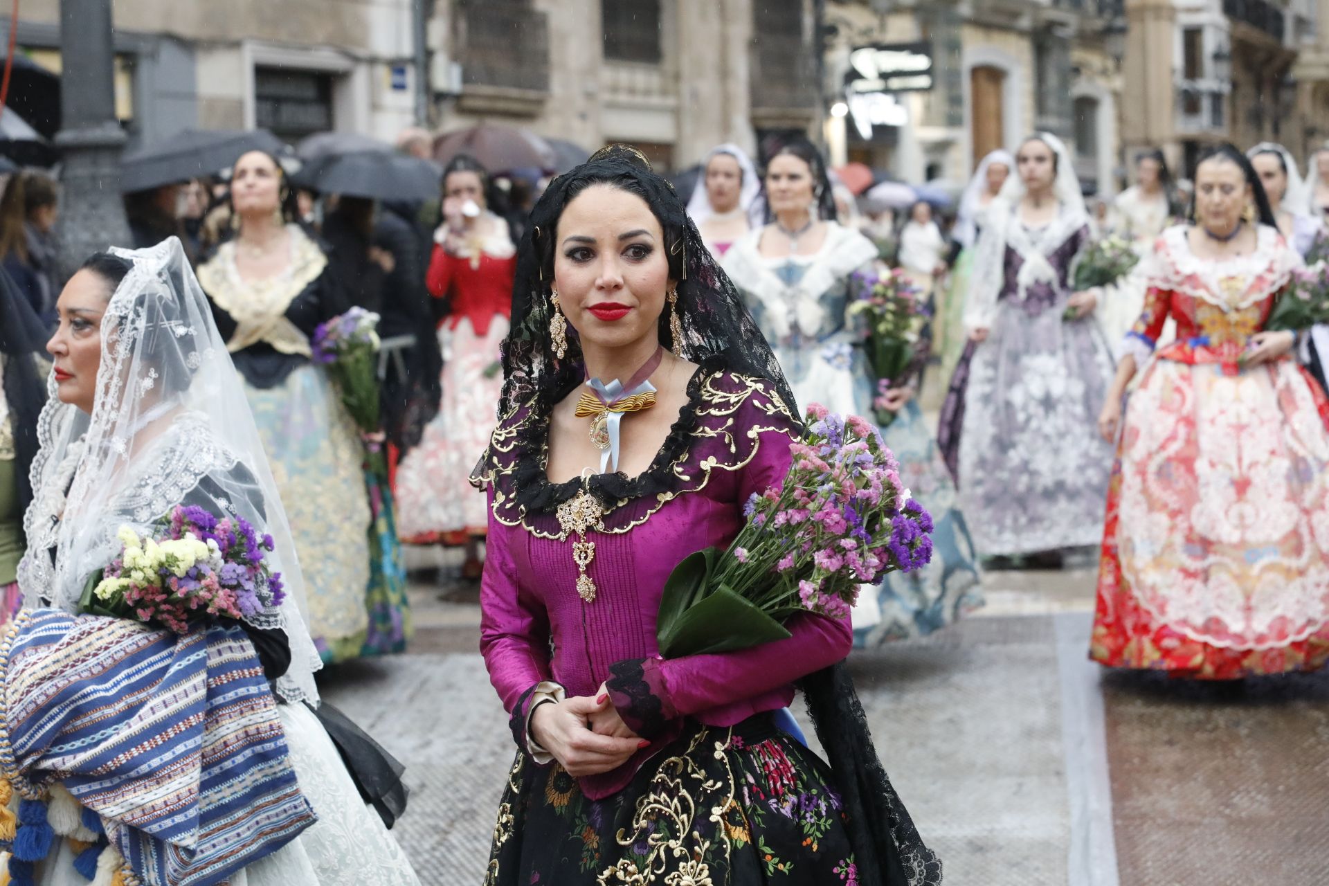
M942 406L960 503L982 557L1098 543L1112 448L1098 413L1112 357L1095 319L1003 299L965 349Z

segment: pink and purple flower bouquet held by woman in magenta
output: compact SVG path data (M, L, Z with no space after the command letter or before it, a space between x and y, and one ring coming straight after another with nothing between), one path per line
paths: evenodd
M698 551L670 574L657 622L662 656L780 640L797 612L845 618L861 584L932 559L932 517L904 489L880 432L816 404L807 424L783 484L752 495L728 550Z

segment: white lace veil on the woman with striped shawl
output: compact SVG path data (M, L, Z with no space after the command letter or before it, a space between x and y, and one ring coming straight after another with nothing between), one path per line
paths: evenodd
M88 578L120 553L124 525L146 533L186 501L243 517L272 537L268 558L287 595L246 620L286 631L291 665L279 695L316 701L320 660L286 510L207 298L174 236L113 252L133 267L102 316L92 414L61 402L52 376L37 420L19 565L24 604L77 611Z

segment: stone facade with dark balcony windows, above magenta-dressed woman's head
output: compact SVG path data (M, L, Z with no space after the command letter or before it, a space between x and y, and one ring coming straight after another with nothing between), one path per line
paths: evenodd
M435 128L526 126L664 169L820 120L807 0L439 0ZM520 61L518 61L520 60Z

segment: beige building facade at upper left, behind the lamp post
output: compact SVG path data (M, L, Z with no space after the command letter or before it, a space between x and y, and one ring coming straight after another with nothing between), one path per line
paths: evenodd
M187 128L392 138L415 118L412 5L116 0L117 116L130 146ZM58 72L60 1L24 0L20 12L19 48Z

